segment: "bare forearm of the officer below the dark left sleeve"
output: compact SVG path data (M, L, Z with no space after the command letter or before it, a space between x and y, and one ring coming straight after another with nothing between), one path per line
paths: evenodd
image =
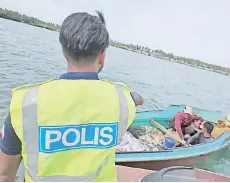
M9 156L0 152L0 182L14 182L21 159L21 155Z

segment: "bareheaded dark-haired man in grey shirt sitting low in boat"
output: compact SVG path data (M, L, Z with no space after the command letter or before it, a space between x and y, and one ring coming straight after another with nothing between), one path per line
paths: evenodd
M203 124L202 130L198 131L195 135L187 140L187 144L201 144L213 140L211 135L214 125L210 122Z

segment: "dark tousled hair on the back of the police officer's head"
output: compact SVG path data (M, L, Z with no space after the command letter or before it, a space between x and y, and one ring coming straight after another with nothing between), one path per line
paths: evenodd
M59 41L67 60L88 64L109 46L109 33L105 18L88 13L73 13L63 22Z

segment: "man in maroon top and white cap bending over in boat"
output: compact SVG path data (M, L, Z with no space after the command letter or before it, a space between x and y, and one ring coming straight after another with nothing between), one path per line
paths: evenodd
M192 114L192 108L186 106L183 112L178 112L176 116L169 123L169 128L177 131L179 136L184 139L185 134L192 135L195 133L195 129L191 126L192 122L197 124L202 123L204 119L197 115Z

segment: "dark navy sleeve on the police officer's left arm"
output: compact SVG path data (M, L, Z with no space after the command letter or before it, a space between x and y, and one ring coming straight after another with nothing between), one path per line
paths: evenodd
M1 151L7 155L21 154L22 143L12 127L10 113L4 123L3 133L4 136L0 145Z

